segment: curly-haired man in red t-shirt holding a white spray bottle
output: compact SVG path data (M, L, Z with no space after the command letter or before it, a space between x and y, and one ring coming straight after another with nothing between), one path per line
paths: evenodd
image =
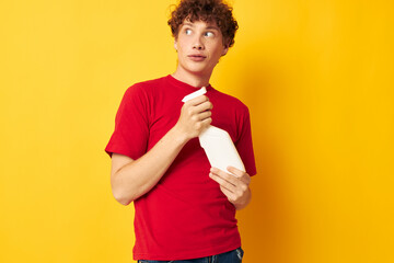
M209 84L237 23L221 0L182 0L169 25L178 65L173 75L126 91L106 147L113 194L135 204L135 260L241 262L235 210L250 203L256 173L250 115ZM201 87L206 95L182 103ZM197 138L210 124L230 134L246 172L210 168Z

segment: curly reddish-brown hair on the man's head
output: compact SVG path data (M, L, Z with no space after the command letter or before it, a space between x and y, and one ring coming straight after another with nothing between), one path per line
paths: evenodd
M232 8L222 0L181 0L167 22L175 39L185 20L215 21L223 35L223 44L228 47L234 45L239 25L232 15Z

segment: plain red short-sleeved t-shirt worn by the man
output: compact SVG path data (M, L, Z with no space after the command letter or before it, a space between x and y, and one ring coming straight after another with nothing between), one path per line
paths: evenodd
M177 122L182 99L197 88L172 76L130 87L116 115L106 151L138 159ZM212 123L227 130L250 175L256 173L247 107L207 88ZM135 204L135 260L187 260L241 245L235 208L209 178L210 164L198 138L181 150L159 183Z

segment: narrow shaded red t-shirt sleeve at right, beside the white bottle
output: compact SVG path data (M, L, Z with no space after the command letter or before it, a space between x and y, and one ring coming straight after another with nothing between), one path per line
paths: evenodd
M253 176L257 173L252 142L251 117L247 107L241 118L240 137L235 142L236 150L245 165L246 172Z

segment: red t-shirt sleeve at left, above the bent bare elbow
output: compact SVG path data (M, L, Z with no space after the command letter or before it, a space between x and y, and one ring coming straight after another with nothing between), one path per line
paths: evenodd
M120 153L136 160L147 152L149 139L149 104L142 87L130 87L116 113L115 130L105 151Z

